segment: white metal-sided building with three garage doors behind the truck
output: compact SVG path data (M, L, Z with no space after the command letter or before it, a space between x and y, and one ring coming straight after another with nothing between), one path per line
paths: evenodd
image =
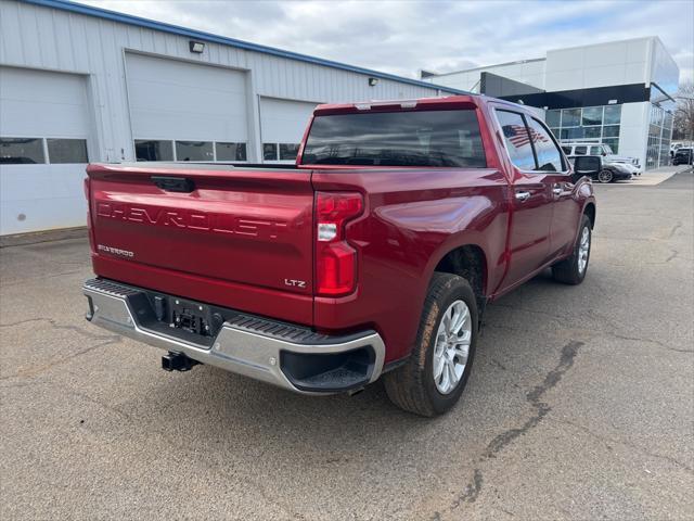
M292 161L316 104L428 82L62 0L0 0L0 234L82 226L87 162Z

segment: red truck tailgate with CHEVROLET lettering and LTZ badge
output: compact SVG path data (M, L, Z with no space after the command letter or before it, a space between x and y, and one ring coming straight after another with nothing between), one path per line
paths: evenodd
M97 275L312 320L310 170L90 165Z

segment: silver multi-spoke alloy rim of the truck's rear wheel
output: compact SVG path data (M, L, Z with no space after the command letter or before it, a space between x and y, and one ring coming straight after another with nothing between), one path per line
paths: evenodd
M455 301L446 309L436 332L433 370L439 393L451 393L463 378L472 338L473 320L467 304Z

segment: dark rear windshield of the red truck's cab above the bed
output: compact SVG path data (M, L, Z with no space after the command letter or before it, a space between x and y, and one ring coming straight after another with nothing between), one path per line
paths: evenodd
M473 110L317 116L301 163L364 166L487 166Z

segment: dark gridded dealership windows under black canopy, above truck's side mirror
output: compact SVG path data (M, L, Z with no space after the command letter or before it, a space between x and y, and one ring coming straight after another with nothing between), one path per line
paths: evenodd
M545 122L562 142L606 143L619 152L621 105L547 111Z

